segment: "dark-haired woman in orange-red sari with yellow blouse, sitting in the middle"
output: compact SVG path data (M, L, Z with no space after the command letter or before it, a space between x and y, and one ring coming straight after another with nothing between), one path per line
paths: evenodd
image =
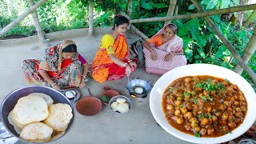
M102 38L101 45L92 62L92 77L97 82L123 78L132 73L137 64L129 58L125 32L129 21L124 16L115 16L114 28Z

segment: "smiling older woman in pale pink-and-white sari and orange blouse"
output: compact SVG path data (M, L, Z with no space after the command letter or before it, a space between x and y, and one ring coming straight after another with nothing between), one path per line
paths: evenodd
M165 74L178 66L186 65L183 41L176 35L177 31L178 27L171 23L152 38L142 42L147 73Z

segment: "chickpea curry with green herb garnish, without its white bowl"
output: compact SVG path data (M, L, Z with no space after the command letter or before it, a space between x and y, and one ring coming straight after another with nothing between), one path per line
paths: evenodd
M214 138L232 133L243 122L247 102L227 79L198 75L171 82L162 96L162 109L175 129Z

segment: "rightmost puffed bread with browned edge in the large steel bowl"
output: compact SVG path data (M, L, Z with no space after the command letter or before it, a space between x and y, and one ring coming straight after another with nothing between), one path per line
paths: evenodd
M56 103L48 107L49 116L43 121L57 131L65 131L70 119L73 118L72 109L66 103Z

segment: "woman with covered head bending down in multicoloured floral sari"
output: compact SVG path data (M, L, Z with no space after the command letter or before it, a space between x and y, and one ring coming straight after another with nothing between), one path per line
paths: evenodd
M77 46L71 40L46 48L42 61L28 59L22 63L26 84L50 86L55 90L86 86L88 68L88 63L78 54Z

